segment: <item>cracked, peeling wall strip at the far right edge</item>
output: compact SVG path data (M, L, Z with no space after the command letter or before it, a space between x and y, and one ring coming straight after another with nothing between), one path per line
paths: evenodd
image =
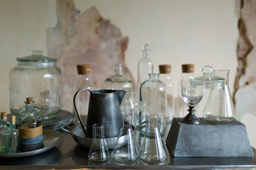
M239 39L237 42L237 74L234 102L237 118L244 113L256 116L256 1L241 0Z

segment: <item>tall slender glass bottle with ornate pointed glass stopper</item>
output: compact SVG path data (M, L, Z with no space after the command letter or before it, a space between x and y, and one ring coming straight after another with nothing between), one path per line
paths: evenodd
M148 58L150 47L145 44L142 47L142 58L138 61L138 72L137 72L137 88L136 88L136 110L139 110L140 104L140 87L141 84L148 80L148 73L153 73L153 62Z

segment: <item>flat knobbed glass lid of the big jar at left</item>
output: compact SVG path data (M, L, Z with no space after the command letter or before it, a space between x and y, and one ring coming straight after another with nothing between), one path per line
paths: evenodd
M35 61L35 62L56 62L56 58L45 57L42 51L33 50L31 55L26 57L18 57L17 61Z

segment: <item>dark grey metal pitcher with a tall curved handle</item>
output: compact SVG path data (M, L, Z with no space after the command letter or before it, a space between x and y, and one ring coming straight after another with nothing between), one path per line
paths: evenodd
M88 89L78 90L74 96L74 108L76 108L76 97L79 92ZM83 127L84 134L88 138L93 137L92 125L105 125L105 138L117 137L122 128L122 115L120 111L120 104L125 96L124 90L88 90L90 92L90 101L88 107L88 116L86 129L83 127L79 113L77 117Z

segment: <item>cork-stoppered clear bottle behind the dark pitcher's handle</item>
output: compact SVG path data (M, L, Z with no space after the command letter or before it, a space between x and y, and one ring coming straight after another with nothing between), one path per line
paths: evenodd
M92 67L90 64L77 65L77 78L73 87L73 94L80 89L94 90L95 86L92 81ZM88 105L90 101L90 93L81 91L76 98L76 107L80 115L88 115ZM75 110L73 109L72 115L73 124L79 124Z

